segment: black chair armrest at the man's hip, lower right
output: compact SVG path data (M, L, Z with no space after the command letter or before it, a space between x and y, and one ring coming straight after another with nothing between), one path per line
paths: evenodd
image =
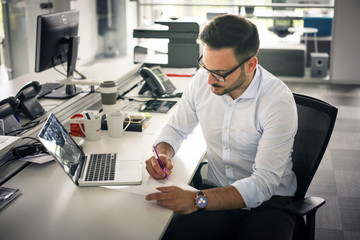
M296 202L290 203L284 208L284 211L293 214L295 216L305 216L310 213L316 212L316 210L325 204L325 199L319 197L308 197Z

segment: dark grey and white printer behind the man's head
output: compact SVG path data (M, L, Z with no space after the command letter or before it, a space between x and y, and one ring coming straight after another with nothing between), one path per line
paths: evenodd
M159 19L152 26L138 27L134 38L146 39L134 48L134 63L175 68L197 67L200 46L197 38L202 23L183 17Z

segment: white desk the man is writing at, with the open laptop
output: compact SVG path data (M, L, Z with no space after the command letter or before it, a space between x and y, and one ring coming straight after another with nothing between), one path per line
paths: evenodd
M175 82L174 82L175 83ZM87 142L85 151L116 151L119 157L135 155L143 162L143 182L149 178L144 161L173 110L154 114L149 129L125 132ZM189 183L205 153L197 128L174 157L172 180ZM2 239L159 239L173 212L148 202L144 196L102 187L77 187L55 162L31 164L6 182L22 195L0 211Z

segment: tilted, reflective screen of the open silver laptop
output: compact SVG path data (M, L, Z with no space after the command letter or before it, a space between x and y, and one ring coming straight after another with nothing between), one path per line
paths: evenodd
M39 133L39 139L71 180L77 184L85 154L54 114L49 115Z

